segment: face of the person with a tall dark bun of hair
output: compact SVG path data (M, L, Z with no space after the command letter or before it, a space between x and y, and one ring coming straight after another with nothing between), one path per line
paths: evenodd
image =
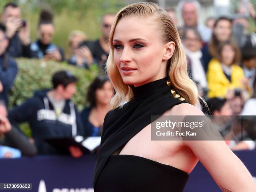
M54 26L52 24L41 24L38 32L40 41L48 45L51 43L52 36L54 35Z

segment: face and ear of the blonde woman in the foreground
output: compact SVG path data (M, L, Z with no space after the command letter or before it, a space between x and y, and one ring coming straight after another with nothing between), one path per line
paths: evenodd
M122 18L113 34L113 46L123 82L134 87L166 77L166 63L175 48L174 42L164 44L153 18L142 17Z

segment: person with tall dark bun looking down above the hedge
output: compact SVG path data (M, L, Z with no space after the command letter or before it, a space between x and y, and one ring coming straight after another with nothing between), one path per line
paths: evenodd
M30 45L30 57L64 61L64 51L59 46L56 46L51 42L53 35L53 15L49 11L43 10L40 13L38 23L38 40Z

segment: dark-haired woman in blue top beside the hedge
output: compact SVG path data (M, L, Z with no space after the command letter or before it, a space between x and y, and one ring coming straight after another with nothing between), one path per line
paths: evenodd
M114 95L106 75L100 75L90 84L87 92L88 108L81 112L85 136L101 136L103 120L110 110L109 102Z

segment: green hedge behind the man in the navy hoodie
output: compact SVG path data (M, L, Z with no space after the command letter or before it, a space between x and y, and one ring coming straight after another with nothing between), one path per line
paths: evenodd
M79 110L86 105L85 96L90 82L97 77L98 68L92 65L89 70L74 67L67 63L55 61L41 61L36 59L17 59L19 72L10 91L10 109L20 105L24 100L33 96L34 91L51 88L51 77L59 70L69 70L78 77L77 93L72 100ZM31 136L31 130L27 123L20 124L20 128L26 135Z

